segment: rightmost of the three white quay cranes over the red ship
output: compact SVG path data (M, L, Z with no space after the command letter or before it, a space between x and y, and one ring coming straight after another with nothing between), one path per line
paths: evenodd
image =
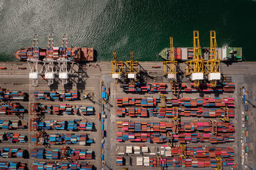
M61 54L58 59L58 70L59 70L59 78L62 81L62 85L68 83L68 76L72 74L72 67L74 62L67 59L67 46L68 46L68 36L67 34L63 34L62 36L62 46L61 46Z

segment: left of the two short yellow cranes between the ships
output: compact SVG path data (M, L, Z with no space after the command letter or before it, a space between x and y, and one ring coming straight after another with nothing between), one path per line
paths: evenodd
M116 79L116 84L117 84L118 80L121 78L121 75L123 74L123 62L118 61L116 57L116 51L113 51L113 56L115 60L111 61L112 72L110 74L112 74L112 78Z

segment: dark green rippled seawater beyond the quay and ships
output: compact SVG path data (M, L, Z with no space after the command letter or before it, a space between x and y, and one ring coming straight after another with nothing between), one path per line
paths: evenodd
M170 46L193 46L193 30L200 45L210 46L215 30L218 46L241 46L246 61L255 61L256 0L0 0L0 61L16 60L19 48L61 46L63 33L69 46L93 47L97 60L162 60L158 53Z

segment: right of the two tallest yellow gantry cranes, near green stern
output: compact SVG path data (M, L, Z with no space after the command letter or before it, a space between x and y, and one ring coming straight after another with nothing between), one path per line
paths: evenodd
M218 46L216 42L216 32L211 31L211 51L210 59L204 61L205 71L204 73L208 75L208 80L211 82L211 87L216 87L217 81L221 80L220 74L220 59L218 55Z

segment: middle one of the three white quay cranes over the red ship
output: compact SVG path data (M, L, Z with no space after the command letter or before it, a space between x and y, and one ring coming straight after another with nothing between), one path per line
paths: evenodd
M54 60L53 60L53 34L49 34L48 45L46 50L46 57L44 59L44 67L45 67L45 78L48 80L48 85L52 85L54 81Z

